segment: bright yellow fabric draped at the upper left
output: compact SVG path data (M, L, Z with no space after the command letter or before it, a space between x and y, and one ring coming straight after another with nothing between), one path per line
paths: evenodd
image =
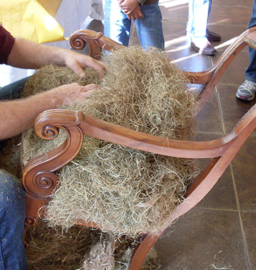
M62 26L36 0L1 0L0 22L14 37L38 43L65 40Z

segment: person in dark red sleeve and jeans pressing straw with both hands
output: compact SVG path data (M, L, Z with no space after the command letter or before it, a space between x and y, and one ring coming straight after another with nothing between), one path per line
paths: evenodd
M0 64L24 69L37 69L44 64L66 65L78 76L84 75L82 70L84 66L98 71L100 77L107 69L106 64L87 55L37 44L26 39L15 39L1 25ZM55 109L77 98L89 97L95 87L97 87L95 84L86 87L77 83L66 84L29 98L0 101L0 141L33 127L35 118L46 109ZM24 220L25 192L12 174L0 169L1 270L28 269L23 243Z

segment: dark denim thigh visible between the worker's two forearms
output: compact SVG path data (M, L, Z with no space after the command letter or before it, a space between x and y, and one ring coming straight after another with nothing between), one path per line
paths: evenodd
M0 100L12 100L15 98L21 98L21 93L24 89L26 81L30 77L17 80L17 82L12 82L0 89Z

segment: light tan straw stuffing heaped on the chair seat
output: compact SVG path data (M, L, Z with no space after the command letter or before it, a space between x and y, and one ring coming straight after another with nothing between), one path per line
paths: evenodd
M196 102L183 74L164 53L131 46L108 55L109 71L87 100L62 109L83 111L110 123L161 137L192 136ZM69 77L70 76L70 77ZM77 81L64 67L46 66L32 76L26 95ZM24 161L64 141L65 134L43 141L33 132L24 138ZM47 206L50 226L73 226L77 219L117 235L156 233L169 224L192 177L190 161L160 156L85 136L82 150L59 171L60 185Z

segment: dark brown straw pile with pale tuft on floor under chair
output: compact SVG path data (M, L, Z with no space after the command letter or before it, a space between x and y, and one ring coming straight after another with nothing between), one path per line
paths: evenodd
M114 235L75 225L65 232L40 220L28 228L27 250L30 270L127 270L134 240L121 242ZM149 252L141 270L157 270L155 249Z

